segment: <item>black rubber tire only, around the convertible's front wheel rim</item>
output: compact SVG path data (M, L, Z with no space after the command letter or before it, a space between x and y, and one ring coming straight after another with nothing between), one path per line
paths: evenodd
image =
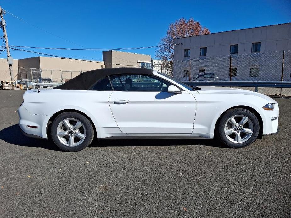
M229 138L225 134L225 127L227 125L226 123L228 122L228 120L231 117L236 116L236 115L248 117L248 119L251 121L251 123L253 125L252 135L249 137L249 139L247 139L246 141L244 141L242 143L235 143L229 139L231 137L235 138L235 135L236 135L235 132L233 134L231 134ZM237 119L239 119L239 117ZM232 128L230 128L230 129L232 130ZM257 137L259 135L259 131L260 131L260 123L258 121L258 118L255 116L255 114L253 112L246 110L246 109L243 109L243 108L234 108L234 109L226 111L222 115L221 119L218 121L218 124L216 125L216 128L215 128L215 138L219 139L222 144L227 145L229 147L243 148L243 147L246 147L249 144L253 143L257 139ZM240 134L240 132L239 132L239 134ZM242 134L244 135L244 133L242 133ZM247 136L247 134L245 134L245 136Z

